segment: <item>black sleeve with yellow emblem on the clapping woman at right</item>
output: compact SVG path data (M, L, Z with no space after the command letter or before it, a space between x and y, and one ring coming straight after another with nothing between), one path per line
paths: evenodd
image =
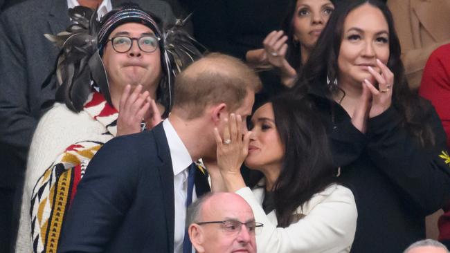
M404 129L401 116L391 106L368 120L367 153L377 168L403 193L404 201L427 215L440 209L449 197L450 158L446 135L433 106L429 103L417 106L416 116L420 122L431 126L435 135L433 147L425 148L420 140Z

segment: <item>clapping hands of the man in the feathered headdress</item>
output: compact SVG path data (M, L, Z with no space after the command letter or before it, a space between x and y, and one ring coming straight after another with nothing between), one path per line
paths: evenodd
M127 135L141 131L141 123L144 120L147 128L151 129L161 122L161 113L154 100L150 98L148 91L142 91L138 85L130 94L132 87L125 86L119 103L119 115L117 118L117 135Z

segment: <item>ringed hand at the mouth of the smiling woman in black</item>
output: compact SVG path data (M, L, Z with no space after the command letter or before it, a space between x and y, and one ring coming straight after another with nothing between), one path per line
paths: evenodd
M390 69L377 59L377 65L381 69L381 74L369 67L369 72L378 82L378 89L371 84L368 79L364 80L364 84L372 93L372 106L370 106L369 118L374 118L384 113L392 104L394 74Z

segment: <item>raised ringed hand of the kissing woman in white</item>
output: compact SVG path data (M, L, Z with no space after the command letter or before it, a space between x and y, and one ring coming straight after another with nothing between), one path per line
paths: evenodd
M240 167L249 152L249 140L251 132L242 137L242 118L231 113L224 120L222 136L217 128L214 129L217 144L217 165L222 176L240 175Z

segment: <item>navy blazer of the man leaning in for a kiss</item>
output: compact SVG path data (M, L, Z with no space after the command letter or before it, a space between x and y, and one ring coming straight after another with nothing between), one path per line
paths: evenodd
M163 124L110 140L78 185L58 252L173 252L173 178Z

